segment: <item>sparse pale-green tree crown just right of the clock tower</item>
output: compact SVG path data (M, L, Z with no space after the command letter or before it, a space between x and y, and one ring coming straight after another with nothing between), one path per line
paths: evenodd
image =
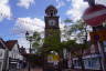
M87 28L89 29L89 27L86 26L82 20L78 20L68 27L65 26L64 30L65 30L65 34L67 34L70 38L73 37L75 40L81 40L82 38L87 36L88 33Z

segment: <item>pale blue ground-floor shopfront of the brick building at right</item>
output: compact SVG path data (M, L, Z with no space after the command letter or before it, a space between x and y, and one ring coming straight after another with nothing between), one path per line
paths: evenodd
M85 69L100 70L99 54L89 54L83 57ZM74 67L81 69L81 64L77 58L73 59Z

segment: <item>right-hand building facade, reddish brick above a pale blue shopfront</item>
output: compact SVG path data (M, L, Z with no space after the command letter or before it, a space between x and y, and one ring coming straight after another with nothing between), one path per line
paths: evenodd
M78 53L78 51L76 51L76 53ZM78 57L71 55L71 59L74 69L82 69ZM89 48L84 50L82 60L86 70L102 70L102 58L98 51L98 45L96 43L91 44Z

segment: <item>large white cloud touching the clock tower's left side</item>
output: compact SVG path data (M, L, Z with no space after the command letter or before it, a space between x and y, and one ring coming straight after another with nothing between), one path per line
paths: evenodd
M44 30L44 21L38 18L19 18L17 23L13 28L14 33L24 33L26 31L34 32L34 31L43 31Z

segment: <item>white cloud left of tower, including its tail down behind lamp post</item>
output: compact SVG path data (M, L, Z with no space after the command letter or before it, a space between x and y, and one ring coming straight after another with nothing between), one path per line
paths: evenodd
M25 40L25 32L33 33L34 31L41 32L44 31L44 21L38 18L19 18L12 33L19 34L18 38L19 44L24 48L29 48L29 42Z

